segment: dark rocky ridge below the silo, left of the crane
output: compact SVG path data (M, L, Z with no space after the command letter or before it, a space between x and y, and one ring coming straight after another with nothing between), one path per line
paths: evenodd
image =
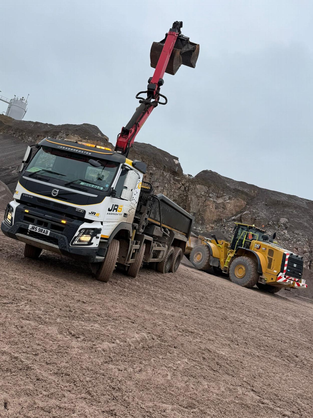
M37 143L46 137L89 141L97 145L106 143L109 140L98 127L89 123L81 125L52 125L27 120L15 120L5 115L0 115L0 133L13 135L26 142L33 143Z

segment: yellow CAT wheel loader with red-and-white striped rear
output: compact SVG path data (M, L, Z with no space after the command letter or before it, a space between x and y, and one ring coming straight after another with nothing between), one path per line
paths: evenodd
M213 268L226 273L240 286L277 293L281 288L306 288L302 279L303 257L280 247L254 225L235 223L231 242L191 236L185 255L198 270Z

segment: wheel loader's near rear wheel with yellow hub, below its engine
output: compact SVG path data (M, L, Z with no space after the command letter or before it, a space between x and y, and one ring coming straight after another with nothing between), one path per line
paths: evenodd
M230 265L230 280L242 287L252 288L257 284L260 274L257 273L257 262L249 257L238 257Z

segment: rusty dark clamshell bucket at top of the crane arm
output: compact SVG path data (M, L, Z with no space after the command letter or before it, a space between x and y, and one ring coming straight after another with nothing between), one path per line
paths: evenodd
M165 38L160 42L152 43L150 50L150 65L155 68L161 55ZM189 41L189 38L179 35L175 42L165 72L174 75L181 65L194 68L199 56L199 44Z

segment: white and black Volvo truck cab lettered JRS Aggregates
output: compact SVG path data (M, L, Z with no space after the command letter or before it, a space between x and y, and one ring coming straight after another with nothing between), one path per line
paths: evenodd
M27 151L2 231L25 244L94 262L112 233L130 236L144 163L109 148L45 138ZM34 155L32 155L34 154Z

